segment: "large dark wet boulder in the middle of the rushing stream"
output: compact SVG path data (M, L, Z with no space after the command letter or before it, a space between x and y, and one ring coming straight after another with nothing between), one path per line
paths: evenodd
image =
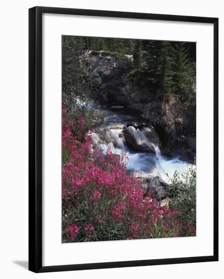
M133 126L129 126L124 130L124 137L127 145L133 150L155 154L154 145L148 142L144 134Z

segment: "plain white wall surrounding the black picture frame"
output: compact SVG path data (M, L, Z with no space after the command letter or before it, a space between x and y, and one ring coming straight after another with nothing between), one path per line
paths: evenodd
M0 136L0 274L2 278L211 278L223 274L224 206L222 202L224 152L223 49L224 14L222 0L30 0L1 4L1 136ZM131 267L88 271L34 274L28 260L28 8L53 6L82 9L117 10L160 14L219 17L219 262L167 266ZM205 81L206 82L206 81ZM207 127L207 132L212 132ZM205 147L206 149L209 147ZM205 158L206 159L206 158ZM208 162L209 164L209 162ZM206 174L205 174L206 175ZM209 202L209 201L208 201ZM164 248L165 249L165 248ZM181 249L181 248L180 248ZM119 251L118 251L119 253ZM134 253L134 251L133 251ZM220 274L220 275L219 275Z

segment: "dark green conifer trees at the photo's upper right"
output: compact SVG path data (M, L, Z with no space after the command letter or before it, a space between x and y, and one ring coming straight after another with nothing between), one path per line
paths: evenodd
M195 69L184 43L135 40L131 79L150 88L154 99L195 105Z

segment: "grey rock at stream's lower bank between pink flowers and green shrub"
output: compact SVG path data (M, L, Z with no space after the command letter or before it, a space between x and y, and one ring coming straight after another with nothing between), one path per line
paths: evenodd
M170 186L157 176L148 184L147 191L154 192L154 196L158 200L162 200L169 196Z

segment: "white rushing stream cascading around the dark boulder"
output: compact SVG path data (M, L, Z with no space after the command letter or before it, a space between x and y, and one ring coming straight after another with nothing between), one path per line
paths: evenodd
M137 116L127 115L124 112L106 110L107 117L97 123L92 135L93 148L104 154L110 148L114 154L128 157L127 169L139 178L160 176L169 182L174 171L185 173L190 163L181 161L178 157L167 159L161 155L159 146L155 146L156 155L146 152L137 152L128 148L122 131L127 123L137 122ZM137 121L136 121L137 120ZM150 129L150 128L148 128ZM166 175L168 174L168 176Z

